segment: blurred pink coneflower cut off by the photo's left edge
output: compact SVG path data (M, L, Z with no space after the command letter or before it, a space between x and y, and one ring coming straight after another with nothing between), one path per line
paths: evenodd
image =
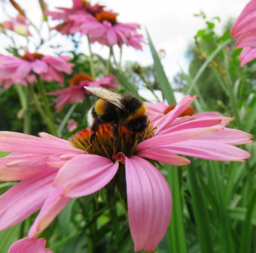
M46 56L40 53L25 53L23 56L0 54L0 85L9 88L14 83L27 85L36 81L39 75L46 81L64 82L63 73L71 74L73 63L69 56Z

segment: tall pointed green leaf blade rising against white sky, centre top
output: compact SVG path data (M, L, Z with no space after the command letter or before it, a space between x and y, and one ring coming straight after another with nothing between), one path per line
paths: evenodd
M159 80L159 84L160 84L160 87L162 90L163 97L167 100L169 105L175 105L176 99L174 97L173 89L168 81L168 78L167 78L165 72L164 72L163 66L160 62L160 59L158 57L158 54L155 50L155 47L153 45L153 42L149 36L147 29L146 29L146 32L147 32L147 36L148 36L148 40L149 40L149 47L150 47L151 54L152 54L152 57L154 60L155 72L156 72L157 78Z

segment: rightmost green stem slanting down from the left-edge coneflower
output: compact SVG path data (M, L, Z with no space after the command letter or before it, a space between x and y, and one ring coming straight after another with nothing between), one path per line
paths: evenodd
M51 125L52 134L54 136L58 136L58 133L57 133L57 130L56 130L56 127L55 127L55 124L54 124L54 118L53 118L53 115L52 115L52 111L51 111L51 108L49 106L48 98L46 96L45 88L43 86L42 80L40 79L39 75L36 75L36 80L37 80L37 88L38 88L40 97L42 99L42 102L43 102L43 105L44 105L44 108L45 108L45 111L46 111L46 116L48 118L49 124Z

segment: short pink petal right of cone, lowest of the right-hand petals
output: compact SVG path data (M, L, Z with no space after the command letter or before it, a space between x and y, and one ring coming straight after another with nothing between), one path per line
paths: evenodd
M186 159L185 157L178 156L170 152L168 149L163 150L159 148L144 148L137 153L137 156L176 166L190 164L190 160Z

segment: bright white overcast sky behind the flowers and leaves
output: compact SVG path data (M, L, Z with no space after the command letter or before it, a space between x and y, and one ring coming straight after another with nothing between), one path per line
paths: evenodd
M27 16L35 24L39 24L41 20L40 7L37 0L16 0ZM45 0L48 3L48 9L54 10L54 7L71 7L71 0ZM6 1L8 2L8 0ZM141 24L141 33L146 37L145 27L147 27L151 39L157 50L164 49L166 56L162 59L162 64L170 79L177 73L180 66L186 71L188 63L184 53L189 43L193 42L193 36L199 29L205 27L204 21L201 18L194 17L193 14L204 11L208 19L219 16L222 26L229 17L236 18L248 0L100 0L91 1L92 3L99 2L107 6L107 9L119 13L118 20L121 22L136 22ZM11 16L16 15L9 4L5 5L7 12ZM0 22L7 20L7 16L0 7ZM17 43L26 45L26 40L18 37ZM10 41L0 34L0 53L6 53L4 47L9 45ZM86 40L84 39L86 42ZM72 49L72 43L65 36L58 35L54 38L51 44L64 44L65 48ZM33 45L29 46L33 51ZM93 51L101 54L103 57L108 56L108 49L99 44L92 47ZM88 54L87 43L82 44L81 51ZM42 53L51 54L47 46L40 49ZM118 56L118 54L116 54ZM137 61L141 65L151 64L152 57L148 45L143 46L143 51L136 51L132 47L125 47L123 50L123 61Z

